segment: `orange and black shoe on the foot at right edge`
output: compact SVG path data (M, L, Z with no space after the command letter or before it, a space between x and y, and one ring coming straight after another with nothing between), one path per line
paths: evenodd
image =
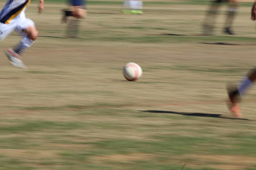
M229 99L227 101L227 106L229 107L230 112L237 118L243 118L243 115L240 111L240 94L237 88L227 88L227 93Z

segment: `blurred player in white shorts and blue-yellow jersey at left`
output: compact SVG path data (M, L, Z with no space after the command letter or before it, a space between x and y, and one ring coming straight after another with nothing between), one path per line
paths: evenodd
M0 12L0 39L3 40L12 31L18 32L23 38L15 47L7 48L5 53L11 65L25 69L21 55L33 44L38 36L34 22L25 16L26 7L31 0L7 0ZM44 0L39 0L38 11L44 9Z

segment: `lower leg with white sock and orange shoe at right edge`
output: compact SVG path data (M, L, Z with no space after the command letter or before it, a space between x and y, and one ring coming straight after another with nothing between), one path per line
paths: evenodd
M236 117L243 117L240 113L240 96L243 96L245 94L245 91L253 84L253 82L256 79L256 68L254 68L252 71L248 73L244 77L244 79L240 82L240 84L235 87L231 88L229 87L227 89L228 95L229 95L229 102L228 106L231 111Z

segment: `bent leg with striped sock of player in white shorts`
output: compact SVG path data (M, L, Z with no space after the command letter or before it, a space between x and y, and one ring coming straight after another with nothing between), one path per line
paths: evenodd
M10 63L13 66L25 69L26 66L23 64L21 56L36 40L38 36L38 31L34 25L34 22L27 18L19 22L18 26L16 26L15 31L17 31L22 36L22 39L13 48L7 48L6 54L10 60Z

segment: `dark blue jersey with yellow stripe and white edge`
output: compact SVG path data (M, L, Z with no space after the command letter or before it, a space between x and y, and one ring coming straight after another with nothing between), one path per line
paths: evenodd
M0 22L9 24L13 18L16 18L29 5L31 0L7 0L0 12Z

